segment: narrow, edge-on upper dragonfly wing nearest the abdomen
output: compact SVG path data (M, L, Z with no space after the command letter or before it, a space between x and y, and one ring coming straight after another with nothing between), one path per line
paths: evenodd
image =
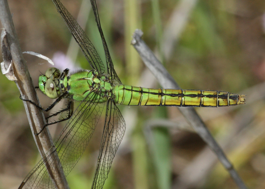
M110 54L109 54L109 51L108 51L108 46L107 46L106 40L104 38L103 31L101 29L101 25L100 25L100 21L99 21L99 13L98 13L96 2L95 2L95 0L90 0L90 2L91 2L92 9L93 9L93 12L94 12L95 20L97 22L99 33L100 33L100 36L101 36L101 39L102 39L102 44L103 44L103 47L104 47L105 57L106 57L106 62L107 62L107 67L108 67L108 70L107 70L108 74L110 76L112 76L112 79L114 79L114 80L118 81L118 83L122 84L120 79L118 78L115 70L114 70L114 67L113 67L113 63L112 63L112 60L111 60L111 57L110 57Z

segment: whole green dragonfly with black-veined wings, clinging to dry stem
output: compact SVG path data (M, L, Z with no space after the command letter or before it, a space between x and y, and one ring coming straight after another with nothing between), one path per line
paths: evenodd
M65 69L62 73L54 67L47 69L45 75L39 77L38 88L48 97L56 100L46 109L35 102L22 99L31 102L43 111L49 111L60 100L67 99L67 107L52 116L68 111L68 116L65 119L55 121L68 120L68 122L55 140L53 147L28 173L19 189L58 187L62 182L58 174L67 176L75 167L96 126L99 125L100 118L104 118L104 129L91 188L103 188L113 158L125 132L125 121L116 104L182 107L219 107L244 104L245 98L243 95L230 92L153 89L123 85L113 67L101 29L95 0L90 0L90 2L102 39L106 65L103 64L88 36L64 5L59 0L52 0L52 2L78 43L91 70L79 70L70 74L69 69ZM75 109L74 104L77 104ZM43 129L47 125L49 124L46 124ZM59 159L60 163L55 163L56 159ZM54 162L52 163L53 167L46 165L48 161ZM53 177L50 177L51 171L54 172Z

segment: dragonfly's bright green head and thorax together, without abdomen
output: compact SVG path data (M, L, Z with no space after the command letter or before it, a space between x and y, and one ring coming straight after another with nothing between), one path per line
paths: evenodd
M74 101L106 102L111 97L112 82L107 75L92 70L81 70L68 75L69 69L63 73L56 68L47 69L45 75L39 77L39 88L50 98L58 98L69 92L64 98Z

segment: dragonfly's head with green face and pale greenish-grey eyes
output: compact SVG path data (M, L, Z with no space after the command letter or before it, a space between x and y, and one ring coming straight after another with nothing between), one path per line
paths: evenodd
M39 77L39 88L50 98L58 98L60 90L55 85L55 79L60 77L60 71L57 68L49 68L46 70L45 75Z

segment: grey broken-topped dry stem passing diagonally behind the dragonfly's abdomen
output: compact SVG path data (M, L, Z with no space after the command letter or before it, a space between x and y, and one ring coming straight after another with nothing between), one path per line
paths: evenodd
M136 30L133 35L132 45L140 54L143 62L146 64L148 69L157 77L160 85L164 88L172 88L172 89L180 89L171 75L166 71L163 65L159 62L159 60L155 57L149 47L145 44L145 42L141 39L142 31ZM194 128L194 130L200 135L200 137L208 144L210 149L214 151L214 153L219 158L219 161L223 164L223 166L228 170L231 177L234 179L239 188L246 189L244 182L239 177L236 170L233 168L233 165L229 162L223 150L214 140L210 131L205 126L204 122L201 120L200 116L196 113L194 108L179 108L179 111L186 118L187 122Z

